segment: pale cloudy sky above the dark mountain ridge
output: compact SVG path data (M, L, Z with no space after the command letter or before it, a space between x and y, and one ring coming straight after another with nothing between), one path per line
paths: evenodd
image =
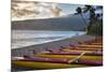
M70 4L70 3L54 3L54 2L12 2L14 10L12 10L12 19L25 18L50 18L76 13L78 6L83 8L85 4ZM59 15L56 15L56 10L62 10ZM38 14L37 14L38 12Z

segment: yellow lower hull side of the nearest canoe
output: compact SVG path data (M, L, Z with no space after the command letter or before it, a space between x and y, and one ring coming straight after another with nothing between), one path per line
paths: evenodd
M66 63L17 61L17 60L12 61L12 64L17 67L26 67L26 68L33 68L33 69L65 69L65 68L89 67L86 64L66 64Z

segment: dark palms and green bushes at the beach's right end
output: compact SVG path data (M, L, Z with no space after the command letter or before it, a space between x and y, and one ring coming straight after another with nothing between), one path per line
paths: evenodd
M93 35L103 35L103 19L99 19L100 14L96 14L96 9L103 10L103 6L94 8L92 5L84 5L84 8L77 8L77 14L80 14L83 21L86 25L87 34ZM90 23L86 24L85 18L83 17L82 13L90 13Z

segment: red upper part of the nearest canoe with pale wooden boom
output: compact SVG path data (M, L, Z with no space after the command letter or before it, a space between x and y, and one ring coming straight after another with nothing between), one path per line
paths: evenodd
M71 59L60 59L60 58L42 58L42 57L31 57L26 56L26 61L40 61L40 62L53 62L53 63L82 63L82 64L89 64L89 66L100 66L103 62L102 60L89 60L89 59L80 59L84 54L82 53L79 56L76 56ZM24 59L24 60L25 60Z

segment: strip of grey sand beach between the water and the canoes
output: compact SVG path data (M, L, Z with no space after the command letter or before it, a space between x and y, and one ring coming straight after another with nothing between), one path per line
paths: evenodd
M68 38L65 40L59 40L59 41L54 41L54 42L49 42L49 43L43 43L43 44L38 44L38 45L30 45L22 48L11 48L11 56L23 56L25 54L27 55L32 55L32 51L36 53L38 52L43 52L46 48L51 49L59 49L60 46L68 47L70 43L77 44L78 42L83 42L87 40L95 39L94 35L76 35L72 38Z

